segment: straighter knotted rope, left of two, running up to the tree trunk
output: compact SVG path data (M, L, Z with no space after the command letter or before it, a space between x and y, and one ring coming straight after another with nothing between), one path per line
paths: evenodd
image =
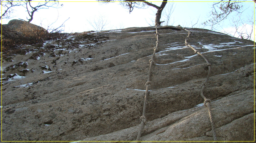
M149 60L150 66L149 66L149 70L148 70L148 80L145 83L146 92L145 92L145 97L144 97L144 105L143 105L142 116L139 118L140 127L139 127L138 136L137 136L137 139L136 139L137 142L140 141L141 133L144 129L144 124L146 124L146 122L147 122L145 114L146 114L146 108L147 108L147 102L148 102L148 100L147 100L148 89L149 89L149 86L152 84L152 82L150 81L150 79L151 79L151 70L152 70L152 66L153 66L153 63L154 63L155 53L158 50L158 45L159 45L159 41L158 41L159 33L157 32L157 26L160 26L160 25L155 26L155 30L156 30L155 36L156 36L157 41L156 41L156 46L154 47L154 53L153 53L151 59Z

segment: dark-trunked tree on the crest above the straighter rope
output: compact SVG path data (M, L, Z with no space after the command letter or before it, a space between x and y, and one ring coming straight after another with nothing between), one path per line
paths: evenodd
M96 0L96 1L108 3L108 2L117 1L117 0ZM155 7L157 9L157 13L155 17L155 25L161 25L161 23L163 22L163 21L160 22L161 14L162 14L162 11L164 10L165 5L167 4L167 0L163 0L160 7L145 0L121 0L120 4L124 8L128 8L130 13L133 11L134 7L136 8L144 8L145 6Z

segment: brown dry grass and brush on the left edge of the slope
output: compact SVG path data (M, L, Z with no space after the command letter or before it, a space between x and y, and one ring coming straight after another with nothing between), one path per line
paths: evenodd
M59 32L49 33L47 30L27 22L18 26L16 31L5 28L5 35L1 35L3 59L14 54L26 54L28 49L25 49L24 45L42 45L45 40L60 39L65 35Z

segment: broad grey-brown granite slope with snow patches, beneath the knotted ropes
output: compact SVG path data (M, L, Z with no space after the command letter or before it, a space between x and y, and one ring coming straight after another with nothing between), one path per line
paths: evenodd
M211 63L218 141L254 140L254 42L206 29L188 42ZM188 33L158 28L141 141L213 141L201 83L205 61L185 46ZM134 141L155 28L66 34L24 45L2 63L2 141Z

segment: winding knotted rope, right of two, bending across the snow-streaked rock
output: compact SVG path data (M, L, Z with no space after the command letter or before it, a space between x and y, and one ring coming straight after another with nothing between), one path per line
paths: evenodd
M217 142L217 137L216 137L216 132L215 132L215 126L214 126L214 121L213 121L213 117L212 117L212 113L211 113L211 100L210 99L207 99L205 96L204 96L204 88L205 88L205 85L207 83L207 81L209 80L209 76L211 74L211 64L208 62L208 60L199 52L197 51L195 48L193 48L187 41L189 39L189 36L192 34L191 31L189 31L188 29L185 29L183 27L181 27L180 25L178 25L177 27L179 28L182 28L183 30L185 31L188 31L188 36L186 37L185 39L185 44L187 47L190 47L192 48L194 51L195 51L195 54L198 54L200 55L201 57L204 58L204 60L206 61L206 66L208 67L208 74L207 74L207 77L205 79L205 81L202 83L202 86L201 86L201 92L200 92L200 95L201 97L204 99L204 107L206 107L208 109L208 113L209 113L209 116L210 116L210 120L211 120L211 128L212 128L212 134L213 134L213 138L214 138L214 141Z

